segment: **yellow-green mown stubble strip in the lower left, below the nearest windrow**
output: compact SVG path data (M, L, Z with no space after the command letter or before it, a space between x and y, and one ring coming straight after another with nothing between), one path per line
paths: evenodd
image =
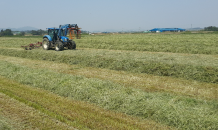
M64 98L3 77L0 79L0 92L17 100L0 93L0 108L5 116L26 124L23 129L170 129L151 120L107 111L87 102Z

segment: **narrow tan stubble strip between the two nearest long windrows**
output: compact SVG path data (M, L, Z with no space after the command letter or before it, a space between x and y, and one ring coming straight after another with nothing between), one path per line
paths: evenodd
M195 80L184 80L166 76L130 73L109 69L82 67L45 60L32 60L19 57L1 56L0 61L27 66L30 68L44 68L59 73L81 75L87 78L98 78L122 84L126 87L139 88L147 92L169 92L177 95L191 96L202 99L218 99L217 84L202 83Z

